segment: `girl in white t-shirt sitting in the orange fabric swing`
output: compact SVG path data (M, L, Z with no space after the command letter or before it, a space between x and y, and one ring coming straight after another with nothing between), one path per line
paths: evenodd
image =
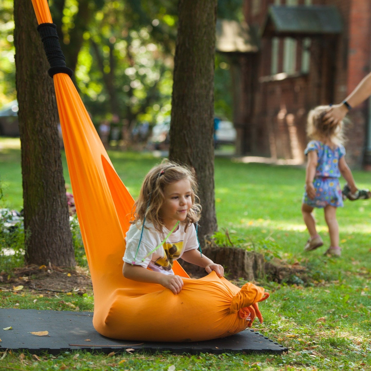
M159 283L174 294L183 288L183 280L174 275L174 260L215 271L224 268L198 252L197 227L201 206L196 202L197 182L191 170L165 162L145 176L135 202L134 220L126 237L122 273L135 281ZM147 269L150 268L150 269Z

